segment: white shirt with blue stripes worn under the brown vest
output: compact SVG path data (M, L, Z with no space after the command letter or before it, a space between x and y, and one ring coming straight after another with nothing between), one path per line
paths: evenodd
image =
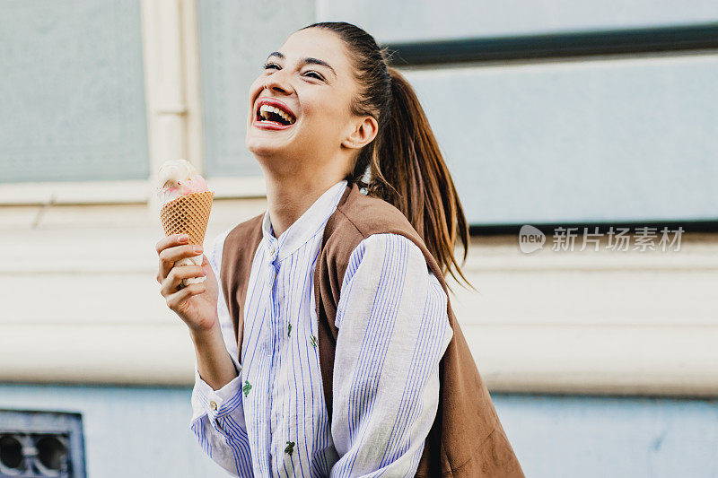
M446 294L421 250L374 234L353 251L337 305L333 412L322 392L314 266L346 180L279 238L268 212L244 307L241 365L223 300L224 343L239 376L213 390L195 369L191 429L235 476L414 476L436 416L451 341ZM207 251L220 276L224 239Z

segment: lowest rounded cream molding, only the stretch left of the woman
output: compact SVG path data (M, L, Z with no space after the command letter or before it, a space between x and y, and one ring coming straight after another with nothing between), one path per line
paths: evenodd
M194 379L195 354L181 323L0 324L0 337L0 382L187 386Z

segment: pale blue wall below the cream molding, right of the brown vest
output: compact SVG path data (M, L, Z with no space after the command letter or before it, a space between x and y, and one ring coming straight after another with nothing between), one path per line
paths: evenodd
M496 408L532 478L714 478L718 402L497 395Z

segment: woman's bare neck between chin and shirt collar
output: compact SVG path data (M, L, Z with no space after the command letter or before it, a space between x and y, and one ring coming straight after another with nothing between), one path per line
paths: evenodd
M267 211L275 237L278 238L289 229L311 204L340 180L342 178L338 176L319 174L283 177L266 174Z

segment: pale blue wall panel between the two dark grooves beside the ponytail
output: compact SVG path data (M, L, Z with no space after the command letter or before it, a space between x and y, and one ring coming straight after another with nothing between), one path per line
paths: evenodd
M718 55L407 78L472 224L718 220Z

